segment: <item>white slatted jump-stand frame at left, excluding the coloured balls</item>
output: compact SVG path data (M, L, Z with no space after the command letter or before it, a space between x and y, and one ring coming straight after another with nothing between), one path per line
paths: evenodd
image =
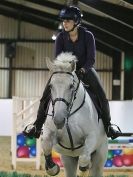
M16 169L17 162L35 162L36 169L41 168L41 140L36 140L35 157L17 157L17 135L22 133L28 123L34 122L37 116L39 98L13 97L13 127L11 137L12 168Z

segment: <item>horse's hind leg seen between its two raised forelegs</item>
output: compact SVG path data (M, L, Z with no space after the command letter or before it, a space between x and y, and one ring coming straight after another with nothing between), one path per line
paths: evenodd
M65 177L77 177L78 157L61 155L64 165Z

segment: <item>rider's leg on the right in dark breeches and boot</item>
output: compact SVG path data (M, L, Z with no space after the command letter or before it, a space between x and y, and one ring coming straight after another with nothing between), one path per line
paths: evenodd
M100 79L94 68L91 68L84 75L83 82L90 86L90 89L93 90L94 94L97 96L100 102L100 106L102 109L102 120L107 136L111 137L112 139L117 138L120 132L114 130L113 127L111 126L109 103L108 100L106 99L106 95L100 83Z

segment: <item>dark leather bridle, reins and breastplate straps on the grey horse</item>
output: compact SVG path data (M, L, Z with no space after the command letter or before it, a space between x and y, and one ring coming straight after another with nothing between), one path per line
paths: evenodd
M55 75L55 74L69 74L69 75L71 75L71 76L73 77L73 86L74 86L74 82L75 82L75 81L74 81L74 75L73 75L71 72L57 71L57 72L54 72L54 73L52 74L51 78L52 78L53 75ZM50 79L51 79L51 78L50 78ZM65 124L65 125L66 125L66 129L67 129L67 132L68 132L68 136L69 136L71 148L62 145L59 140L58 140L58 144L59 144L60 146L62 146L63 148L68 149L68 150L72 150L72 151L74 151L75 149L79 149L80 147L82 147L82 146L84 145L84 144L81 144L81 145L79 145L79 146L77 146L77 147L74 147L72 134L71 134L71 131L70 131L70 128L69 128L69 124L68 124L68 119L69 119L74 113L76 113L76 112L84 105L84 103L85 103L86 91L85 91L85 89L84 89L84 97L83 97L82 103L80 104L80 106L79 106L78 108L76 108L73 112L71 112L72 107L73 107L73 104L74 104L74 101L76 100L76 96L77 96L77 92L78 92L78 89L79 89L79 85L80 85L80 80L78 79L77 87L76 87L75 90L72 91L72 95L71 95L71 100L70 100L70 102L68 102L66 99L61 98L61 97L55 98L54 100L52 99L52 107L53 107L53 110L52 110L52 118L53 118L53 119L54 119L54 107L55 107L55 103L56 103L57 101L62 101L62 102L64 102L64 103L66 104L66 106L67 106L68 116L67 116L67 118L66 118L66 124Z

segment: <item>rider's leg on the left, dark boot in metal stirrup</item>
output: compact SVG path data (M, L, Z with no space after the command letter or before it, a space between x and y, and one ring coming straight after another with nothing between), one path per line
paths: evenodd
M26 126L26 128L23 131L25 136L30 137L30 138L40 137L42 126L46 120L50 99L51 99L51 92L50 92L50 86L49 86L49 81L48 81L45 87L45 90L43 92L43 96L40 100L40 105L39 105L39 109L37 113L37 119L33 123L33 125Z

